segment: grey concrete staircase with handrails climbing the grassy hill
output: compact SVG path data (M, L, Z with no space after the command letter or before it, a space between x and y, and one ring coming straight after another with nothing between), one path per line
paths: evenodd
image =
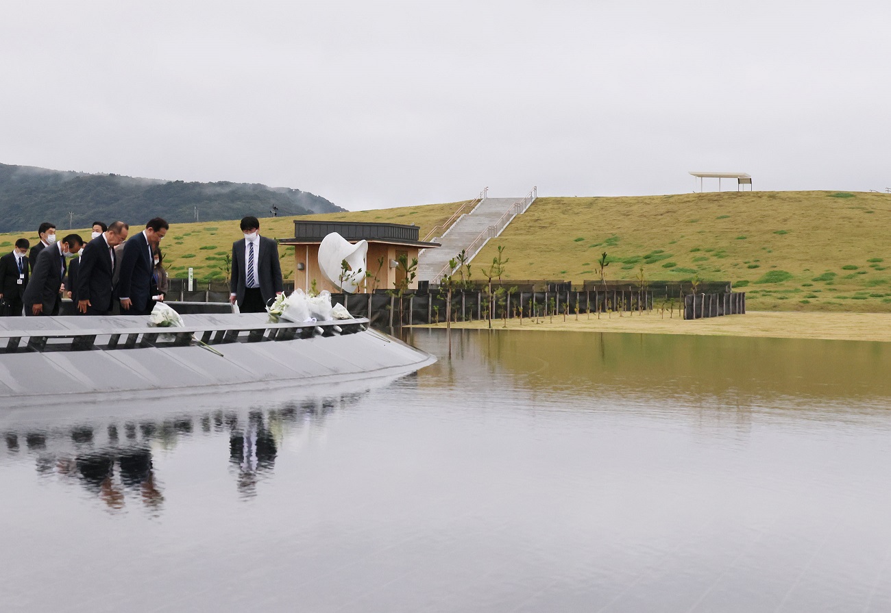
M489 239L502 233L513 217L523 213L535 200L535 188L523 198L484 198L479 204L458 220L446 233L432 242L442 246L424 249L418 257L418 279L432 283L439 282L439 276L448 261L461 253L462 249L472 259ZM446 271L448 273L448 271Z

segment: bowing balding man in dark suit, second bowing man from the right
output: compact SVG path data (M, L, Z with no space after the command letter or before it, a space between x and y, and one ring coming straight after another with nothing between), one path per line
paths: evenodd
M89 241L78 266L78 313L110 315L114 300L115 247L127 240L130 226L116 221L109 229Z

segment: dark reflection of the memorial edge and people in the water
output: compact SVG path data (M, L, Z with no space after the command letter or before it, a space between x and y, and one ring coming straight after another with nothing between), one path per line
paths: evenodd
M112 510L128 504L159 513L164 481L153 462L158 450L188 445L195 437L228 441L228 461L242 497L274 472L282 443L303 429L323 429L326 416L364 397L367 390L307 398L248 413L217 410L163 420L95 420L57 427L35 423L5 429L0 462L32 457L37 475L76 484ZM225 461L221 450L220 460ZM81 491L82 491L81 490Z

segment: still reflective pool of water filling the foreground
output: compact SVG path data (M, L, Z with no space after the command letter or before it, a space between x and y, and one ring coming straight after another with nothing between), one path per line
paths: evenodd
M410 340L401 380L0 412L3 610L891 610L887 344Z

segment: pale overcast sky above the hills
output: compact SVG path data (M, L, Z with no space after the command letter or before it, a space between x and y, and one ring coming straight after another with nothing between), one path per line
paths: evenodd
M887 0L2 6L7 164L350 209L891 187Z

